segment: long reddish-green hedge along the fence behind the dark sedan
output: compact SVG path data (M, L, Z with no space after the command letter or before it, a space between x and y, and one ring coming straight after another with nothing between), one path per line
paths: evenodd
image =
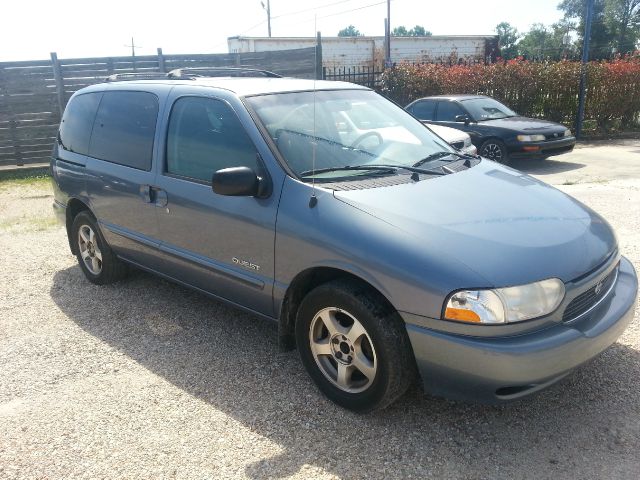
M511 60L470 66L400 64L382 74L381 91L401 105L429 95L483 94L522 115L573 125L579 85L579 62ZM595 121L592 132L638 129L639 117L640 59L590 62L585 120Z

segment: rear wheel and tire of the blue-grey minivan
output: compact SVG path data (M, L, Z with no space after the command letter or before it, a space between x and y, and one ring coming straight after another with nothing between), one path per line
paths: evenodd
M127 276L127 264L111 250L91 213L76 215L71 235L80 268L91 283L108 285Z

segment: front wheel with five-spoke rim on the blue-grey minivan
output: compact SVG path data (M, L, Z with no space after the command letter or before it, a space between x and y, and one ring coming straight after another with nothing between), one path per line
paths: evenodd
M332 281L312 290L298 310L296 340L318 388L349 410L384 408L415 378L404 322L359 282Z

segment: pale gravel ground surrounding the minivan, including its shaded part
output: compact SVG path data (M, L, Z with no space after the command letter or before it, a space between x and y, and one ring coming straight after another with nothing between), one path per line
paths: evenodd
M560 186L640 270L635 178ZM46 183L0 183L0 478L640 478L640 321L532 398L355 415L276 327L144 273L86 282Z

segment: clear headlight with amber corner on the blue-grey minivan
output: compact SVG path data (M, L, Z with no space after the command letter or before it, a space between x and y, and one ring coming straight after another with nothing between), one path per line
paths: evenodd
M452 294L444 318L460 322L496 324L542 317L564 298L564 283L557 278L495 290L463 290Z

